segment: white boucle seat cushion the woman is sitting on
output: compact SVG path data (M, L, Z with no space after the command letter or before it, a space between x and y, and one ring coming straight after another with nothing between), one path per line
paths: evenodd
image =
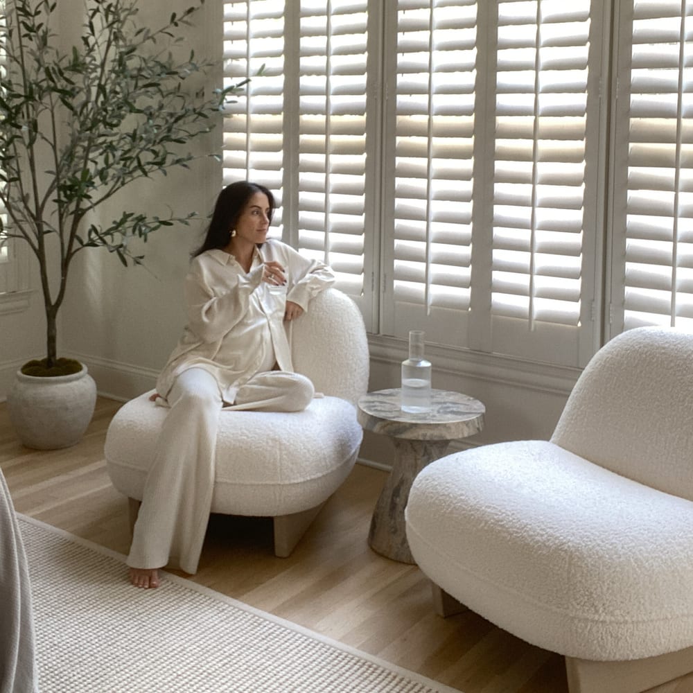
M137 500L168 412L149 394L116 412L105 443L114 486ZM303 412L222 411L211 511L278 516L320 505L349 475L362 435L355 408L338 397L316 398Z

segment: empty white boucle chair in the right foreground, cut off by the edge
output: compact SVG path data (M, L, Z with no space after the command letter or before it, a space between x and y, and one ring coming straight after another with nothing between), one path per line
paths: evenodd
M565 655L571 693L693 671L693 335L608 342L550 441L447 455L414 480L407 541L440 613L464 604Z

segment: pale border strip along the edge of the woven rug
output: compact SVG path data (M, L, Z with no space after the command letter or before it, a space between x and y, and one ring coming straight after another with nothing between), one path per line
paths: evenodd
M15 514L17 516L17 519L20 521L24 521L28 524L37 525L38 527L42 527L46 530L46 532L52 532L53 534L57 534L58 536L67 538L69 541L73 541L74 543L85 546L96 553L117 559L118 561L121 561L123 565L125 565L125 559L127 558L127 556L125 556L125 554L121 554L121 552L114 551L105 546L97 544L94 541L90 541L89 539L85 539L81 536L77 536L76 534L72 534L72 532L68 532L67 529L61 529L60 527L54 527L53 525L49 525L48 523L45 523L43 520L37 520L37 518L25 515L24 513L16 512ZM422 685L426 685L432 688L433 690L439 691L439 693L462 693L457 688L453 688L444 683L440 683L439 681L435 681L434 679L428 678L428 676L424 676L423 674L419 674L418 672L412 672L411 669L405 669L405 667L401 667L392 662L388 662L387 660L381 657L372 655L371 653L365 652L356 647L352 647L351 645L348 645L344 642L335 640L335 638L331 638L328 635L323 635L322 633L313 631L310 628L307 628L306 626L301 626L301 624L294 623L285 618L282 618L281 616L274 615L269 611L263 611L263 609L257 608L256 606L252 606L251 604L245 604L245 602L241 602L239 599L229 597L228 595L225 595L221 592L217 592L216 590L213 590L204 585L199 585L196 582L193 582L192 580L180 577L179 575L174 575L173 573L167 572L166 570L160 570L160 572L166 576L167 580L170 580L175 584L184 586L207 597L218 599L221 602L226 602L227 604L235 606L236 608L239 608L242 611L252 613L277 625L283 626L284 628L290 631L295 631L297 633L301 633L301 635L306 635L309 638L313 638L313 640L324 642L325 644L330 645L331 647L335 647L336 649L340 649L353 656L368 660L369 662L383 667L384 669L390 669L395 674L411 678L412 681L421 683Z

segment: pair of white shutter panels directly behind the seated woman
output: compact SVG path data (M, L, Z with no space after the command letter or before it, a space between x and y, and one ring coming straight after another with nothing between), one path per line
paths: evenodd
M369 328L378 185L377 99L370 50L373 0L225 3L229 83L251 77L229 107L225 182L245 178L279 193L283 240L326 261ZM376 44L377 45L377 44ZM254 78L262 64L262 76ZM368 141L367 141L368 140Z

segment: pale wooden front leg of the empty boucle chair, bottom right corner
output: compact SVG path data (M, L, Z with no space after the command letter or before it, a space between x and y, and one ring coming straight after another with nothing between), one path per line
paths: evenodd
M570 693L640 693L693 672L693 647L625 662L565 658Z

